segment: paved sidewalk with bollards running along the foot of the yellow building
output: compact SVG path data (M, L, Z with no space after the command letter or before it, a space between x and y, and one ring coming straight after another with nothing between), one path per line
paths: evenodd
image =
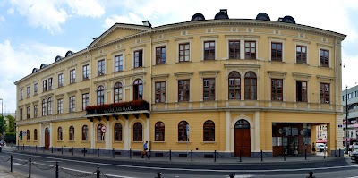
M176 163L176 164L200 164L200 165L216 165L216 164L227 164L227 165L250 165L250 164L294 164L294 163L303 163L303 162L322 162L322 161L336 161L337 159L343 159L344 157L327 157L323 155L323 152L319 152L317 155L307 154L307 157L304 155L296 155L296 156L279 156L279 157L260 157L260 153L256 155L256 157L224 157L221 154L217 154L216 160L214 158L204 158L197 155L195 152L192 152L193 157L191 157L191 152L189 152L188 157L179 157L178 154L172 152L171 160L169 158L168 152L163 152L163 157L155 157L154 153L151 153L150 159L141 158L141 156L132 156L130 158L129 153L125 153L123 155L115 155L113 157L111 150L100 150L99 157L98 153L94 154L83 154L80 150L75 150L72 155L72 151L69 148L54 148L54 152L52 153L52 149L43 151L42 149L38 148L36 151L35 148L29 149L29 147L25 147L25 150L18 150L16 147L11 148L10 146L3 147L3 151L13 151L17 153L38 153L41 155L48 155L48 156L65 156L65 157L86 157L90 159L111 159L113 161L128 161L128 162L162 162L162 163ZM89 151L87 149L87 151ZM91 150L96 151L97 150ZM138 151L132 151L132 154ZM345 156L346 157L346 156Z

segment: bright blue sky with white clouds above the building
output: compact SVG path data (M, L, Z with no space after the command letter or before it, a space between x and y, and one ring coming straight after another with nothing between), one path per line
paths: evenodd
M254 19L267 13L271 21L291 15L298 24L347 35L342 43L342 89L354 87L358 78L358 1L286 0L0 0L0 98L4 113L15 112L16 86L41 64L52 64L86 48L115 22L153 27L190 21L194 13L214 19L220 9L229 18Z

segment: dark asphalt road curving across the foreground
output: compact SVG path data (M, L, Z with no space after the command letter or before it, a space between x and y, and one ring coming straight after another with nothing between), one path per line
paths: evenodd
M0 153L0 165L10 169L13 154L13 170L29 174L29 157L31 157L31 177L55 177L55 162L59 164L59 177L96 177L97 167L101 177L153 178L161 172L164 178L182 177L307 177L312 171L316 178L350 177L358 175L358 165L349 159L321 162L266 163L266 164L200 164L143 161L113 161L111 159L94 159L90 157L47 156L35 153ZM91 174L91 175L90 175ZM104 176L103 174L106 174ZM89 175L89 176L85 176ZM357 176L358 178L358 176Z

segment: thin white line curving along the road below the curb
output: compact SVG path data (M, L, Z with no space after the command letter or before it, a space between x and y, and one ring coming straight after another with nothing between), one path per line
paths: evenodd
M140 166L140 165L113 165L107 163L98 163L98 162L87 162L87 161L79 161L79 160L72 160L72 159L64 159L64 158L55 158L55 157L43 157L43 156L35 156L35 155L28 155L22 153L13 153L16 155L24 155L24 156L31 156L31 157L42 157L42 158L51 158L55 160L63 160L63 161L71 161L77 163L86 163L91 165L108 165L108 166L116 166L116 167L128 167L128 168L141 168L141 169L154 169L154 170L170 170L170 171L192 171L192 172L217 172L217 173L269 173L269 172L294 172L294 171L312 171L312 170L328 170L328 169L338 169L338 168L348 168L348 167L357 167L358 165L344 165L344 166L331 166L331 167L316 167L316 168L297 168L297 169L262 169L262 170L229 170L229 169L188 169L188 168L164 168L164 167L148 167L148 166Z

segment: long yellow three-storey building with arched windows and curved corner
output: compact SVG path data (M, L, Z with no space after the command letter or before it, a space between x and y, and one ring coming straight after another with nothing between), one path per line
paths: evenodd
M85 49L17 86L17 131L40 147L172 150L255 157L303 154L327 125L342 146L341 42L295 24L230 19L151 27L116 23ZM339 143L339 144L338 144Z

